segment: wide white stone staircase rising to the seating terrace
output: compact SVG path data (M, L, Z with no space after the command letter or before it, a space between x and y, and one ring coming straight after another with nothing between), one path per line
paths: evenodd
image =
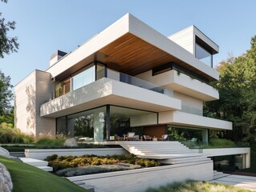
M210 162L211 159L204 154L195 153L189 150L181 142L120 142L125 150L136 154L140 158L156 159L162 164L180 164L188 162Z

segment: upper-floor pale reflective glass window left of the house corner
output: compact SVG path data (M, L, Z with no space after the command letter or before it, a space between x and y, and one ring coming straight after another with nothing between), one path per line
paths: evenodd
M82 86L86 86L95 81L95 65L92 63L89 66L79 70L75 76L72 77L72 89L77 90Z

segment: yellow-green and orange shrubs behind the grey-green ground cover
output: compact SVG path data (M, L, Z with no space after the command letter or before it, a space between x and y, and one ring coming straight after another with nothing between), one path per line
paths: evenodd
M48 166L53 167L54 171L80 166L114 165L116 163L128 163L142 167L159 166L158 162L156 162L155 160L137 158L134 154L115 154L107 156L86 154L80 157L71 155L58 156L57 154L53 154L51 156L48 156L45 160L48 162Z

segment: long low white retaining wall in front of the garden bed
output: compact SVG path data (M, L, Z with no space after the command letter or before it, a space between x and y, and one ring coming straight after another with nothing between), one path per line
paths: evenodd
M172 182L184 182L188 179L210 181L213 179L213 162L156 166L104 174L81 175L67 179L71 182L91 186L95 192L139 192L145 191L149 187L158 188Z

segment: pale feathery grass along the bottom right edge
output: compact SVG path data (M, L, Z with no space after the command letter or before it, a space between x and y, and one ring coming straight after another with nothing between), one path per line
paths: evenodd
M146 192L250 192L235 186L228 186L213 182L175 182L166 186L161 186L158 189L148 189Z

